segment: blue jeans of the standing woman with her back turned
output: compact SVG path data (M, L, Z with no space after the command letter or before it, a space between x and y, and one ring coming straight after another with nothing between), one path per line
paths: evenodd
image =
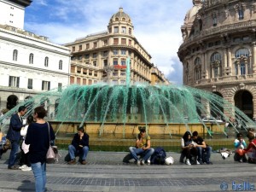
M46 184L46 164L45 164L45 162L43 164L41 164L41 162L32 163L31 167L32 167L32 172L35 177L36 192L44 192L45 184Z

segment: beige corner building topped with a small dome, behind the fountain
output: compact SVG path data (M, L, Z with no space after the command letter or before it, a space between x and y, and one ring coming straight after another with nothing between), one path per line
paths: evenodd
M151 55L133 35L131 18L122 8L110 18L108 31L78 38L66 46L73 55L70 84L125 84L128 57L131 59L131 84L151 83L151 69L154 67ZM161 78L161 73L154 75L160 77L162 83L168 82Z

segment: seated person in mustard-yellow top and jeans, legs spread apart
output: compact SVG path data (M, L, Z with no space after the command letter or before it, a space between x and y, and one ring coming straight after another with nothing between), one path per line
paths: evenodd
M146 128L140 126L139 131L140 133L137 135L135 144L136 147L130 147L129 150L133 159L137 161L137 166L143 166L154 153L154 148L150 148L150 137L146 134ZM141 156L141 160L137 157L137 154Z

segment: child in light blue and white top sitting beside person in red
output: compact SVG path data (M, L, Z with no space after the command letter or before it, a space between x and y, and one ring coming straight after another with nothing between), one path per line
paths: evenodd
M236 148L236 154L234 155L234 160L239 162L247 162L246 155L242 151L244 148L247 148L247 143L245 143L241 133L237 133L234 145Z

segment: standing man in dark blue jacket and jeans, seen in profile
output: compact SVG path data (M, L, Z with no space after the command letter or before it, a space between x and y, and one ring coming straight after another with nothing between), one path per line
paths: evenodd
M22 116L26 114L26 107L20 106L18 113L13 114L9 122L9 131L7 132L7 138L12 144L12 149L9 154L8 168L12 170L19 169L15 166L16 156L20 147L20 130L23 126Z

